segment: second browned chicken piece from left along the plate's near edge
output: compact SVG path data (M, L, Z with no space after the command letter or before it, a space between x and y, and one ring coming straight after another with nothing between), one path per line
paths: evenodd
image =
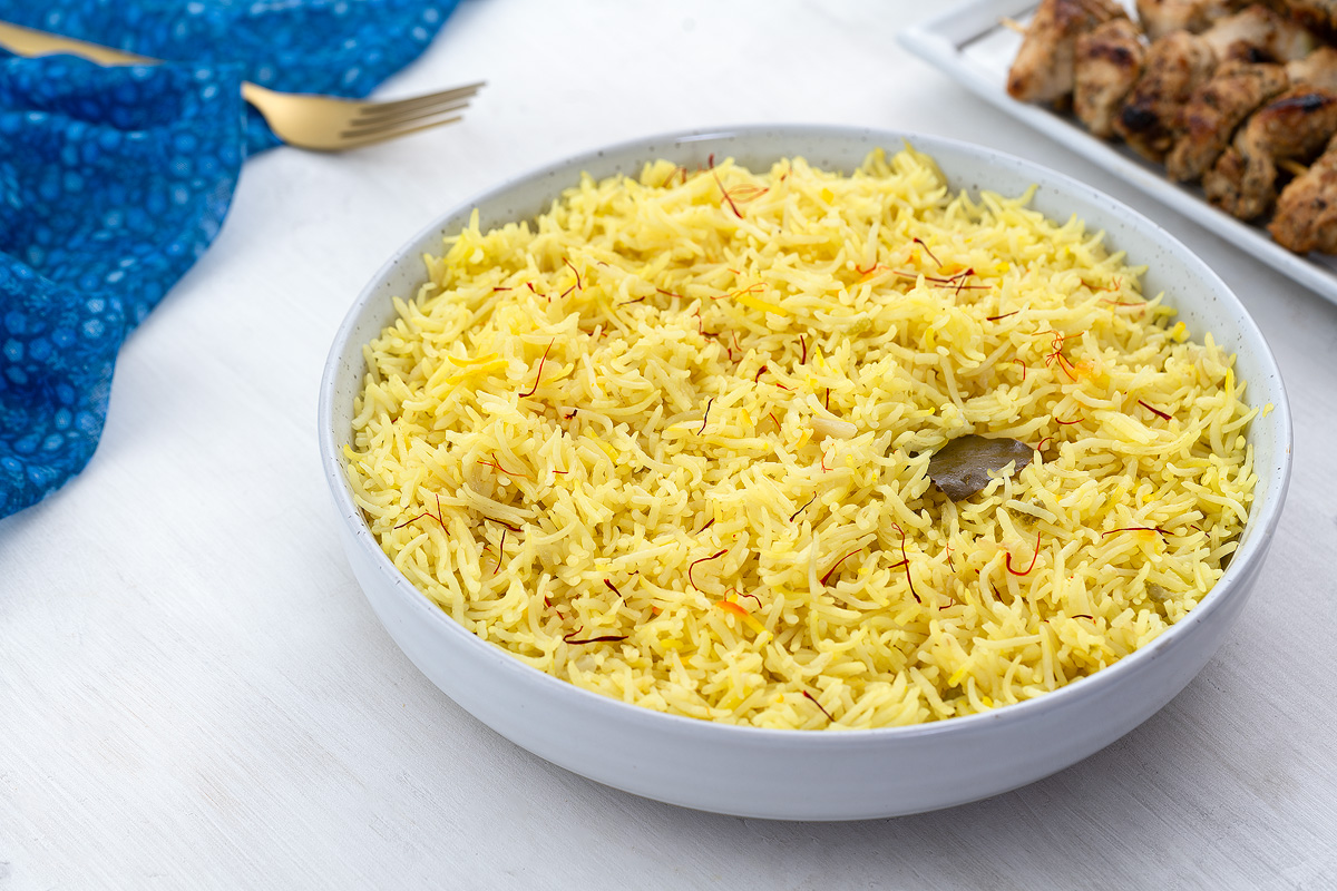
M1111 19L1076 43L1072 112L1102 139L1114 135L1114 119L1142 73L1146 47L1130 19Z

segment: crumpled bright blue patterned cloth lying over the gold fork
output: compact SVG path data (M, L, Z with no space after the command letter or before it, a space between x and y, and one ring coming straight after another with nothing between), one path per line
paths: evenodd
M0 51L0 517L92 457L126 337L277 144L241 81L361 96L456 0L0 0L0 19L159 59Z

